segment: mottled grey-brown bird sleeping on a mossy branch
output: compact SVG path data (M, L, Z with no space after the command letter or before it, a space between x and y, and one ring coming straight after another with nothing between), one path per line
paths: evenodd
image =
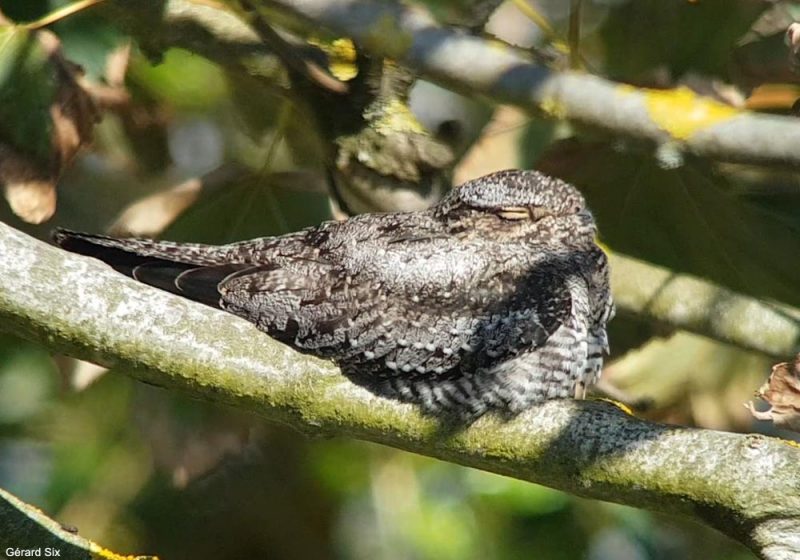
M583 397L607 352L608 264L581 194L500 171L424 211L211 246L58 230L61 247L244 317L431 413Z

